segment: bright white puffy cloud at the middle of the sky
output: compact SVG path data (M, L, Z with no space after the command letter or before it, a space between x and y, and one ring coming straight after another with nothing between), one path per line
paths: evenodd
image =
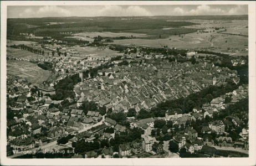
M100 16L149 16L152 15L145 8L139 6L129 6L127 8L121 6L104 6L99 10L97 15Z

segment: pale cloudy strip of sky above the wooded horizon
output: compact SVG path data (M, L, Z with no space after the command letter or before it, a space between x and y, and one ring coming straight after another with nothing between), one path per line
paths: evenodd
M8 6L7 18L153 15L243 15L247 5Z

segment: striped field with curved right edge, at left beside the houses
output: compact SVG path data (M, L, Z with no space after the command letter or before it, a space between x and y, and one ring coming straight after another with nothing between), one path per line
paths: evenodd
M19 76L38 86L50 76L50 71L43 70L29 61L7 61L7 74Z

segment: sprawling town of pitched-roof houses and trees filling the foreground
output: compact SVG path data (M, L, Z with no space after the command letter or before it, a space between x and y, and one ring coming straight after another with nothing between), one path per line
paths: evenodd
M9 158L248 157L248 55L15 38L40 43L7 44Z

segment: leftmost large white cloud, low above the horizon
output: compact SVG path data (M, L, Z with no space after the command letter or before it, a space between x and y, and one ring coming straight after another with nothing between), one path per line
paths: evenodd
M44 6L39 9L27 8L19 17L32 18L32 17L67 17L71 16L71 12L68 9L64 9L58 6Z

